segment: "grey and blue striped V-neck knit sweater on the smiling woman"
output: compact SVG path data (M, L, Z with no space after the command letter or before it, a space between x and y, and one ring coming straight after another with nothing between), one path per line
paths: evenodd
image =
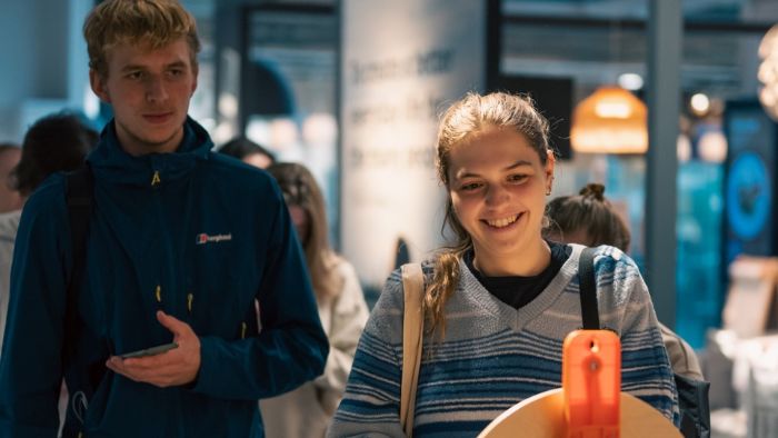
M446 338L425 337L415 437L475 437L499 414L561 386L565 337L581 326L578 257L520 309L489 293L460 261L446 303ZM621 338L621 390L679 422L672 370L646 283L635 262L602 246L595 259L600 323ZM426 281L431 266L425 265ZM359 341L346 395L328 437L402 437L402 278L387 280Z

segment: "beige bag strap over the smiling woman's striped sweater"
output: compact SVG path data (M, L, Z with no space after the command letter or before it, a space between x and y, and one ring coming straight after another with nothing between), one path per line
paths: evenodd
M421 300L425 292L425 277L421 265L402 265L402 290L405 312L402 316L402 386L400 387L400 424L407 437L413 436L413 411L416 387L419 384L421 365L421 339L425 318Z

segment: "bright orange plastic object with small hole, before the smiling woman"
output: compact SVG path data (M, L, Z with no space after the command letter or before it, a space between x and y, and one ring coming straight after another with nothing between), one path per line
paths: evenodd
M618 438L621 342L610 330L576 330L562 347L568 438Z

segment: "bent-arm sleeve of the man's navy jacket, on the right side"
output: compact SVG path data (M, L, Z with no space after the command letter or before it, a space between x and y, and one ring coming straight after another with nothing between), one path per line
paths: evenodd
M241 340L200 338L197 392L257 400L292 390L323 370L329 344L300 243L275 185L273 193L265 265L257 267L262 272L257 293L262 329Z

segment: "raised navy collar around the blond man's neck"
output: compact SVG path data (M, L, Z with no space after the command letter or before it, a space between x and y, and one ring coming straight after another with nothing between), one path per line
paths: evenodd
M213 143L208 132L198 122L187 117L183 138L173 153L148 153L133 157L119 145L114 120L106 125L97 148L87 161L94 175L104 181L149 187L154 178L164 181L187 176L198 161L207 160Z

